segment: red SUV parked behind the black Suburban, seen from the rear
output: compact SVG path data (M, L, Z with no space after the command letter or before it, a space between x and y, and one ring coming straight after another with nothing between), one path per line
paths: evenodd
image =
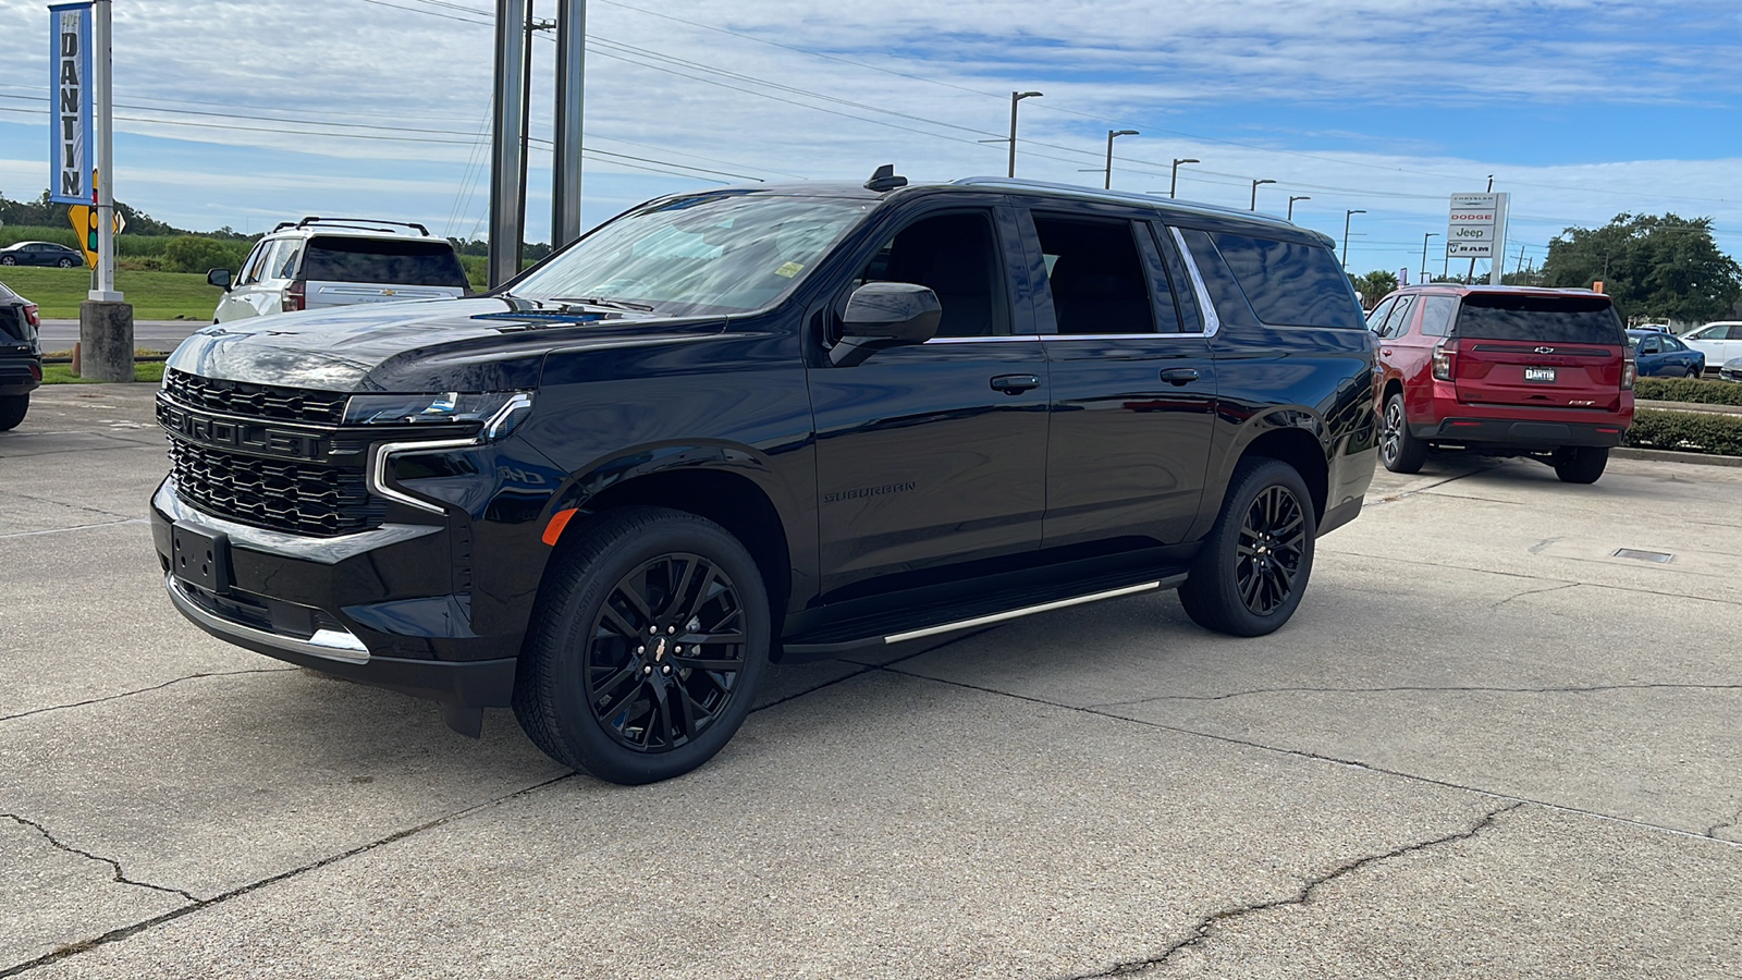
M1432 448L1524 455L1596 483L1634 412L1615 305L1587 289L1399 289L1367 316L1380 342L1380 460L1418 473Z

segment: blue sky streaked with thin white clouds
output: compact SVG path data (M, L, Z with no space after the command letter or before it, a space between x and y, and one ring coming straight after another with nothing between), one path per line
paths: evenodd
M538 0L540 16L554 12ZM193 228L368 214L481 235L490 0L117 0L117 190ZM0 0L0 192L45 187L47 10ZM1512 194L1509 269L1570 225L1711 216L1742 255L1742 5L1681 0L591 0L587 223L747 178L1002 174L1167 188L1421 263L1446 197ZM552 61L537 45L535 138ZM664 173L653 173L664 171ZM1087 171L1087 173L1085 173ZM678 176L688 174L688 176ZM549 225L535 143L528 225ZM1439 269L1442 237L1430 239ZM1481 269L1481 267L1479 267Z

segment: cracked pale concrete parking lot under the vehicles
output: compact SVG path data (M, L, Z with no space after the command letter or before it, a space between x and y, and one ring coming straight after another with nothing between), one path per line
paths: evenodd
M780 668L620 788L183 623L150 396L0 434L0 977L1742 975L1742 469L1381 473L1273 636Z

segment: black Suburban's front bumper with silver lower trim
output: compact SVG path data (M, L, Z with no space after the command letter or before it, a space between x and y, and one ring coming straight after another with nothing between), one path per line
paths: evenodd
M171 572L178 525L221 542L223 582ZM152 539L176 610L213 636L451 706L510 701L521 633L474 631L470 596L453 593L446 525L301 537L195 511L165 480L152 497Z

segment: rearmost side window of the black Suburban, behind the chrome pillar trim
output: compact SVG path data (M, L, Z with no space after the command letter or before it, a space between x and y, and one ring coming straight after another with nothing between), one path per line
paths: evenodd
M1226 232L1211 237L1258 319L1366 330L1348 276L1327 249Z

